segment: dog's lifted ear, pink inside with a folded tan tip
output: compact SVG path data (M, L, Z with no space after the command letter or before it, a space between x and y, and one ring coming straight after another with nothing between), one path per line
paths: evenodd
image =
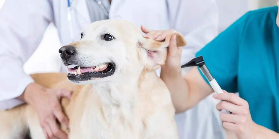
M177 46L182 47L186 45L186 41L180 33L172 33L163 41L143 38L138 42L140 54L142 55L141 60L146 70L155 70L165 64L167 47L173 35L176 35Z

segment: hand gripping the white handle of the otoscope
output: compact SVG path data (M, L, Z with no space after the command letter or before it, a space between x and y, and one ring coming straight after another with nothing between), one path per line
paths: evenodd
M228 110L232 112L232 114L220 114L224 128L235 132L238 139L255 138L257 124L251 118L247 101L234 93L228 93L226 91L224 93L214 94L213 98L230 101L221 101L216 105L219 111Z

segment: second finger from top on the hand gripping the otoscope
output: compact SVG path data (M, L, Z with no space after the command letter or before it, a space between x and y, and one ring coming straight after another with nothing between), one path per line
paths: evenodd
M244 108L242 106L238 106L238 105L232 104L227 101L221 101L216 105L216 109L218 111L227 110L227 111L232 112L233 114L243 115L242 109L244 109Z

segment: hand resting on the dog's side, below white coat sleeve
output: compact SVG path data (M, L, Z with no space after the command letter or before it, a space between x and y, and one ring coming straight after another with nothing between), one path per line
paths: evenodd
M65 132L59 129L58 121L68 127L69 120L62 111L62 97L70 99L72 91L65 89L47 89L31 83L24 91L25 101L33 106L38 114L39 123L47 139L67 139Z

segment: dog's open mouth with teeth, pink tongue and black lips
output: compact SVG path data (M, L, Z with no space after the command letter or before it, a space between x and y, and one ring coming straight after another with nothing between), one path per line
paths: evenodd
M94 67L67 66L68 79L71 81L85 81L91 78L104 78L114 74L115 63L108 62Z

